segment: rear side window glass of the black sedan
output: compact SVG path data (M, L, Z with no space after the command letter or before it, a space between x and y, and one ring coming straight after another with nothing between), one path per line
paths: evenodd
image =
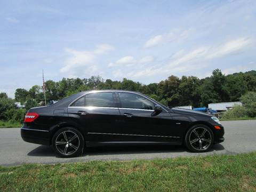
M113 93L89 93L74 102L71 107L114 107Z

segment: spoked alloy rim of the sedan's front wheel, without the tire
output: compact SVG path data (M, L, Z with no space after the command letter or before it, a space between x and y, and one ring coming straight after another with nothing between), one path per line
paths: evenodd
M204 127L196 127L189 135L190 145L196 150L206 150L211 146L211 133Z

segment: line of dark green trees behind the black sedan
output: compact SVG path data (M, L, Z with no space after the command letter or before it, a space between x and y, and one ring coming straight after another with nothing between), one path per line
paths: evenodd
M60 100L71 94L86 90L131 90L147 94L166 106L203 107L212 102L238 101L248 91L256 91L256 71L222 74L215 69L210 77L199 79L195 76L170 76L159 83L148 85L124 78L123 81L106 81L100 76L91 78L62 78L59 82L48 80L46 85L46 102ZM15 101L27 106L38 105L44 101L42 86L34 85L29 90L17 89Z

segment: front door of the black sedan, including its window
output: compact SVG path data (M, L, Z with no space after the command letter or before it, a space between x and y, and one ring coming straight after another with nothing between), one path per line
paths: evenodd
M116 132L122 141L175 142L179 137L172 127L171 115L163 111L154 116L155 103L136 93L118 92L120 126Z

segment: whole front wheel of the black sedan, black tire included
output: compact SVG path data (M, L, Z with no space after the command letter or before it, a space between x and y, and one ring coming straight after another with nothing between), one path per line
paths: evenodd
M212 130L206 125L194 125L185 135L185 146L194 152L202 153L210 149L214 142Z

